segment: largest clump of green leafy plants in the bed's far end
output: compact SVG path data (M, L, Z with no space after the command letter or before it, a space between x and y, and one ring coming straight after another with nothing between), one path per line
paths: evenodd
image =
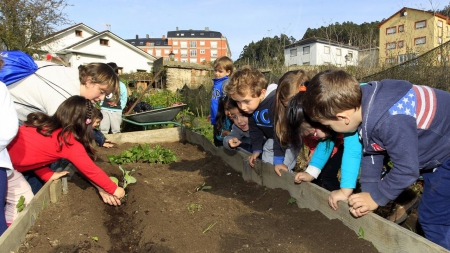
M114 165L133 163L133 162L147 162L147 163L171 163L177 161L177 157L172 150L162 148L156 145L155 148L150 148L148 144L144 146L138 145L128 150L122 151L120 155L109 155L109 162Z

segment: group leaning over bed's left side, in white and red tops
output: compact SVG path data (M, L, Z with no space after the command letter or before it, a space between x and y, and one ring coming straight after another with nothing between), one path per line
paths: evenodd
M0 71L3 60L0 58ZM18 216L21 196L28 204L34 197L30 181L22 173L34 172L43 181L66 175L52 164L69 160L98 189L103 202L120 205L125 195L93 161L95 126L103 118L94 102L117 105L119 79L104 63L78 69L37 62L38 70L6 86L0 82L0 235ZM45 66L45 67L44 67ZM101 137L99 145L114 143Z

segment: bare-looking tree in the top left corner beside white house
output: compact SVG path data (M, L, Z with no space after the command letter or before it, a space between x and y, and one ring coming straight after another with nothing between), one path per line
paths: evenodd
M0 49L38 51L39 42L70 24L63 10L67 0L1 0Z

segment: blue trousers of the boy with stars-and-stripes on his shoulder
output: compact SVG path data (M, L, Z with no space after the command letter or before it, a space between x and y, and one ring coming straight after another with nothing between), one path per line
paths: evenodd
M450 159L434 172L422 173L422 177L419 223L428 240L450 250Z

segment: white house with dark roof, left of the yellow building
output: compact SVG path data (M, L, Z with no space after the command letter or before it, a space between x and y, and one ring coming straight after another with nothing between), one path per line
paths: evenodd
M297 41L284 47L284 64L286 66L356 65L358 48L320 38Z

